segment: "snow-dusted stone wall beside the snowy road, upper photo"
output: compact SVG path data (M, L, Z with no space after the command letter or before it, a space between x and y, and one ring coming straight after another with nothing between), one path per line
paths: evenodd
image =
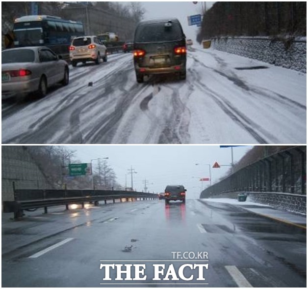
M269 37L213 38L212 48L303 73L307 71L306 37L293 40Z

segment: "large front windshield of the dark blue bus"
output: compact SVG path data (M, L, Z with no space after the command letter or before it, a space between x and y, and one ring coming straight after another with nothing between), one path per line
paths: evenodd
M36 46L43 44L42 29L14 30L15 46Z

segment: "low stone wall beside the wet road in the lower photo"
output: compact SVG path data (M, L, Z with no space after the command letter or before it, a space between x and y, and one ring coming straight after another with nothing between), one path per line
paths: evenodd
M268 204L289 212L306 214L307 197L283 193L249 192L248 201Z

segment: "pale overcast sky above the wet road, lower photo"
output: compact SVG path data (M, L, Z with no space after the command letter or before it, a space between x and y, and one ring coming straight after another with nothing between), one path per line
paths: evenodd
M81 163L90 163L97 158L108 157L108 165L113 168L117 182L131 186L132 167L133 188L144 190L147 180L149 191L163 192L166 185L182 184L187 188L187 198L199 198L203 187L209 182L201 182L201 177L209 177L209 166L218 162L220 165L231 164L231 148L220 148L217 145L74 145L76 159ZM233 160L238 161L251 146L234 147ZM93 167L97 160L93 161ZM200 165L196 166L196 163ZM230 167L211 169L212 182L224 176Z

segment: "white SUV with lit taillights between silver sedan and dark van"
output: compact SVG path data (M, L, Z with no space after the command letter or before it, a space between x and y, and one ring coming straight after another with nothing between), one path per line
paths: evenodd
M97 36L81 36L73 40L70 46L70 59L74 67L78 62L83 64L94 61L100 64L101 58L107 62L107 48Z

